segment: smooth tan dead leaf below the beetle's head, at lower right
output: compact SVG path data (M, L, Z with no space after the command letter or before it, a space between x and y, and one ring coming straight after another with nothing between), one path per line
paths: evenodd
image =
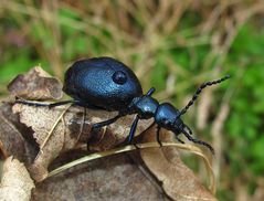
M154 141L156 127L142 134L144 141ZM172 134L161 129L161 139ZM197 176L181 161L176 148L140 149L140 155L154 176L162 183L165 192L173 200L217 200Z

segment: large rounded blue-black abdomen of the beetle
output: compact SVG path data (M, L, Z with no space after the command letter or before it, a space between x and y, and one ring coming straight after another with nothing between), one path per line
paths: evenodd
M134 72L110 57L75 62L65 73L63 91L85 104L120 112L142 95Z

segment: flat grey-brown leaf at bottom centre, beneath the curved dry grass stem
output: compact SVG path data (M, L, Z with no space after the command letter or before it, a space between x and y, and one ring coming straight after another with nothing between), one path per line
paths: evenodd
M73 158L74 151L71 156ZM32 201L39 200L167 199L127 155L116 155L82 163L36 183Z

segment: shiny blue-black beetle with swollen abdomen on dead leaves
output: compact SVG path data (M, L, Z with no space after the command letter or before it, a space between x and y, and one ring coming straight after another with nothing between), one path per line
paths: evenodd
M94 124L93 129L110 125L123 116L136 114L128 135L128 144L133 141L138 120L154 118L154 121L158 125L157 141L160 146L159 131L160 128L165 128L171 130L178 141L183 144L178 137L183 134L190 141L205 146L213 152L211 145L191 136L192 131L181 120L181 116L193 105L203 88L228 78L230 78L229 75L203 83L189 103L179 110L170 103L160 104L151 97L155 87L144 94L137 76L124 63L112 57L93 57L76 61L65 73L63 91L73 99L52 104L17 99L17 103L49 107L73 103L87 108L118 112L118 115L114 118Z

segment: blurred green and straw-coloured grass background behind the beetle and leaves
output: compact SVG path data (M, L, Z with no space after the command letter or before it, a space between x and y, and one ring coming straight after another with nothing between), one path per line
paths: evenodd
M120 60L178 108L230 74L183 119L215 149L220 200L264 199L264 1L1 0L0 24L1 99L17 74L40 64L63 78L82 57Z

